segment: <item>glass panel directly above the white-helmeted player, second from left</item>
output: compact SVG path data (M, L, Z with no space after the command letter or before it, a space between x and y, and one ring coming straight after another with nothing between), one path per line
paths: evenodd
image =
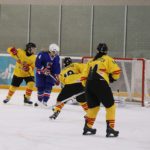
M31 6L30 41L37 43L38 51L50 43L58 44L59 6Z

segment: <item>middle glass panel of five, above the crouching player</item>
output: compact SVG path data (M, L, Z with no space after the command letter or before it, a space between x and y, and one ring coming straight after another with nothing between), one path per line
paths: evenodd
M62 55L90 54L91 6L62 6Z

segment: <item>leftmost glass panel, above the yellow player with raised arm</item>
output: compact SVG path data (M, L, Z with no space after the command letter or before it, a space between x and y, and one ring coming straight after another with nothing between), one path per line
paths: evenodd
M0 53L9 46L24 48L27 42L28 5L1 5Z

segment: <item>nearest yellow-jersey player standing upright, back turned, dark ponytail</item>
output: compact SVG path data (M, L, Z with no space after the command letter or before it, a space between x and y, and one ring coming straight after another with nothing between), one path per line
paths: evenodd
M105 43L100 43L97 50L98 53L87 63L81 78L88 103L83 135L96 134L96 129L92 127L102 103L106 109L106 137L117 137L119 131L114 130L116 106L109 83L119 79L120 68L114 59L107 55L108 47Z

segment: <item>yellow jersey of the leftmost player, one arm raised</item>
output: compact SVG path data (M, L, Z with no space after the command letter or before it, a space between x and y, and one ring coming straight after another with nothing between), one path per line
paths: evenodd
M14 69L14 75L18 77L28 77L28 76L34 76L34 68L35 68L35 55L27 56L26 52L20 48L17 49L18 53L17 56L13 55L11 53L11 48L9 47L7 49L7 52L14 58L16 59L16 66ZM29 71L24 71L23 70L23 65L28 65L29 66Z

